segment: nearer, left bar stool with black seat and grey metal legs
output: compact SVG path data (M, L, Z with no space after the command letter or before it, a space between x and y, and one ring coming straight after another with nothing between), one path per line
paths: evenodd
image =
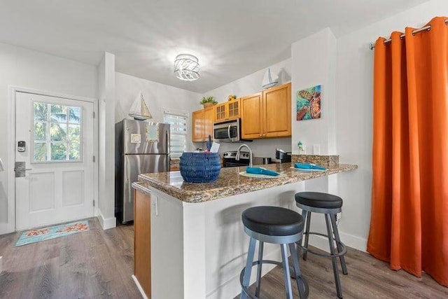
M302 216L295 211L281 207L251 207L244 210L241 215L244 232L251 237L246 260L246 267L243 268L239 275L241 284L241 299L260 298L261 286L261 270L263 263L281 265L283 267L283 275L285 279L286 298L293 298L293 290L290 282L290 270L288 265L287 246L293 259L293 269L295 273L295 281L299 289L300 298L307 298L309 288L307 281L304 280L300 272L299 258L295 244L302 242L304 221ZM258 245L258 260L253 261L255 254L255 244ZM281 263L274 260L263 260L264 243L280 244L281 247ZM300 253L299 253L300 254ZM255 284L255 296L248 293L249 281L251 279L251 269L257 265L257 281Z

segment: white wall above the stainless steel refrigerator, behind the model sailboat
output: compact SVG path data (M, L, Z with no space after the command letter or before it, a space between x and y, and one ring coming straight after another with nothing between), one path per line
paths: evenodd
M140 111L140 92L143 93L153 121L163 123L165 109L172 113L187 112L189 131L191 130L191 111L197 110L201 99L200 94L118 72L116 73L116 123L123 118L130 118L127 114L131 110ZM190 141L189 150L195 148L191 142L191 136L188 140Z

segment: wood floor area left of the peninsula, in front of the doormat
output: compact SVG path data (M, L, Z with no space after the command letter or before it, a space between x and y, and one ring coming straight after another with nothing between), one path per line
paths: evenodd
M0 298L141 298L131 278L134 227L90 230L15 247L20 232L0 236Z

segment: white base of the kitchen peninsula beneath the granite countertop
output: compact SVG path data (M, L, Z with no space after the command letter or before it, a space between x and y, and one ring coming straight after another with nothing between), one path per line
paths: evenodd
M189 203L151 188L151 298L234 298L249 241L242 211L261 205L297 209L293 198L301 190L302 182ZM281 260L279 246L265 244L264 252L265 259ZM262 275L272 268L263 267ZM252 284L255 272L251 277Z

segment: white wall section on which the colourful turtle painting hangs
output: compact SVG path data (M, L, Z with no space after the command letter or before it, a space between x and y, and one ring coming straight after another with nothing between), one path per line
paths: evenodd
M316 47L316 45L318 45ZM297 143L302 141L306 153L313 153L313 145L321 148L320 154L336 154L336 37L329 28L323 29L291 45L292 60L292 147L298 153ZM321 85L321 118L296 120L297 91ZM317 153L316 153L317 154ZM339 175L338 175L339 176ZM337 194L338 176L328 176L304 182L304 189ZM311 230L326 232L322 216L311 218ZM344 236L342 236L344 237ZM311 235L311 244L328 249L328 241Z

